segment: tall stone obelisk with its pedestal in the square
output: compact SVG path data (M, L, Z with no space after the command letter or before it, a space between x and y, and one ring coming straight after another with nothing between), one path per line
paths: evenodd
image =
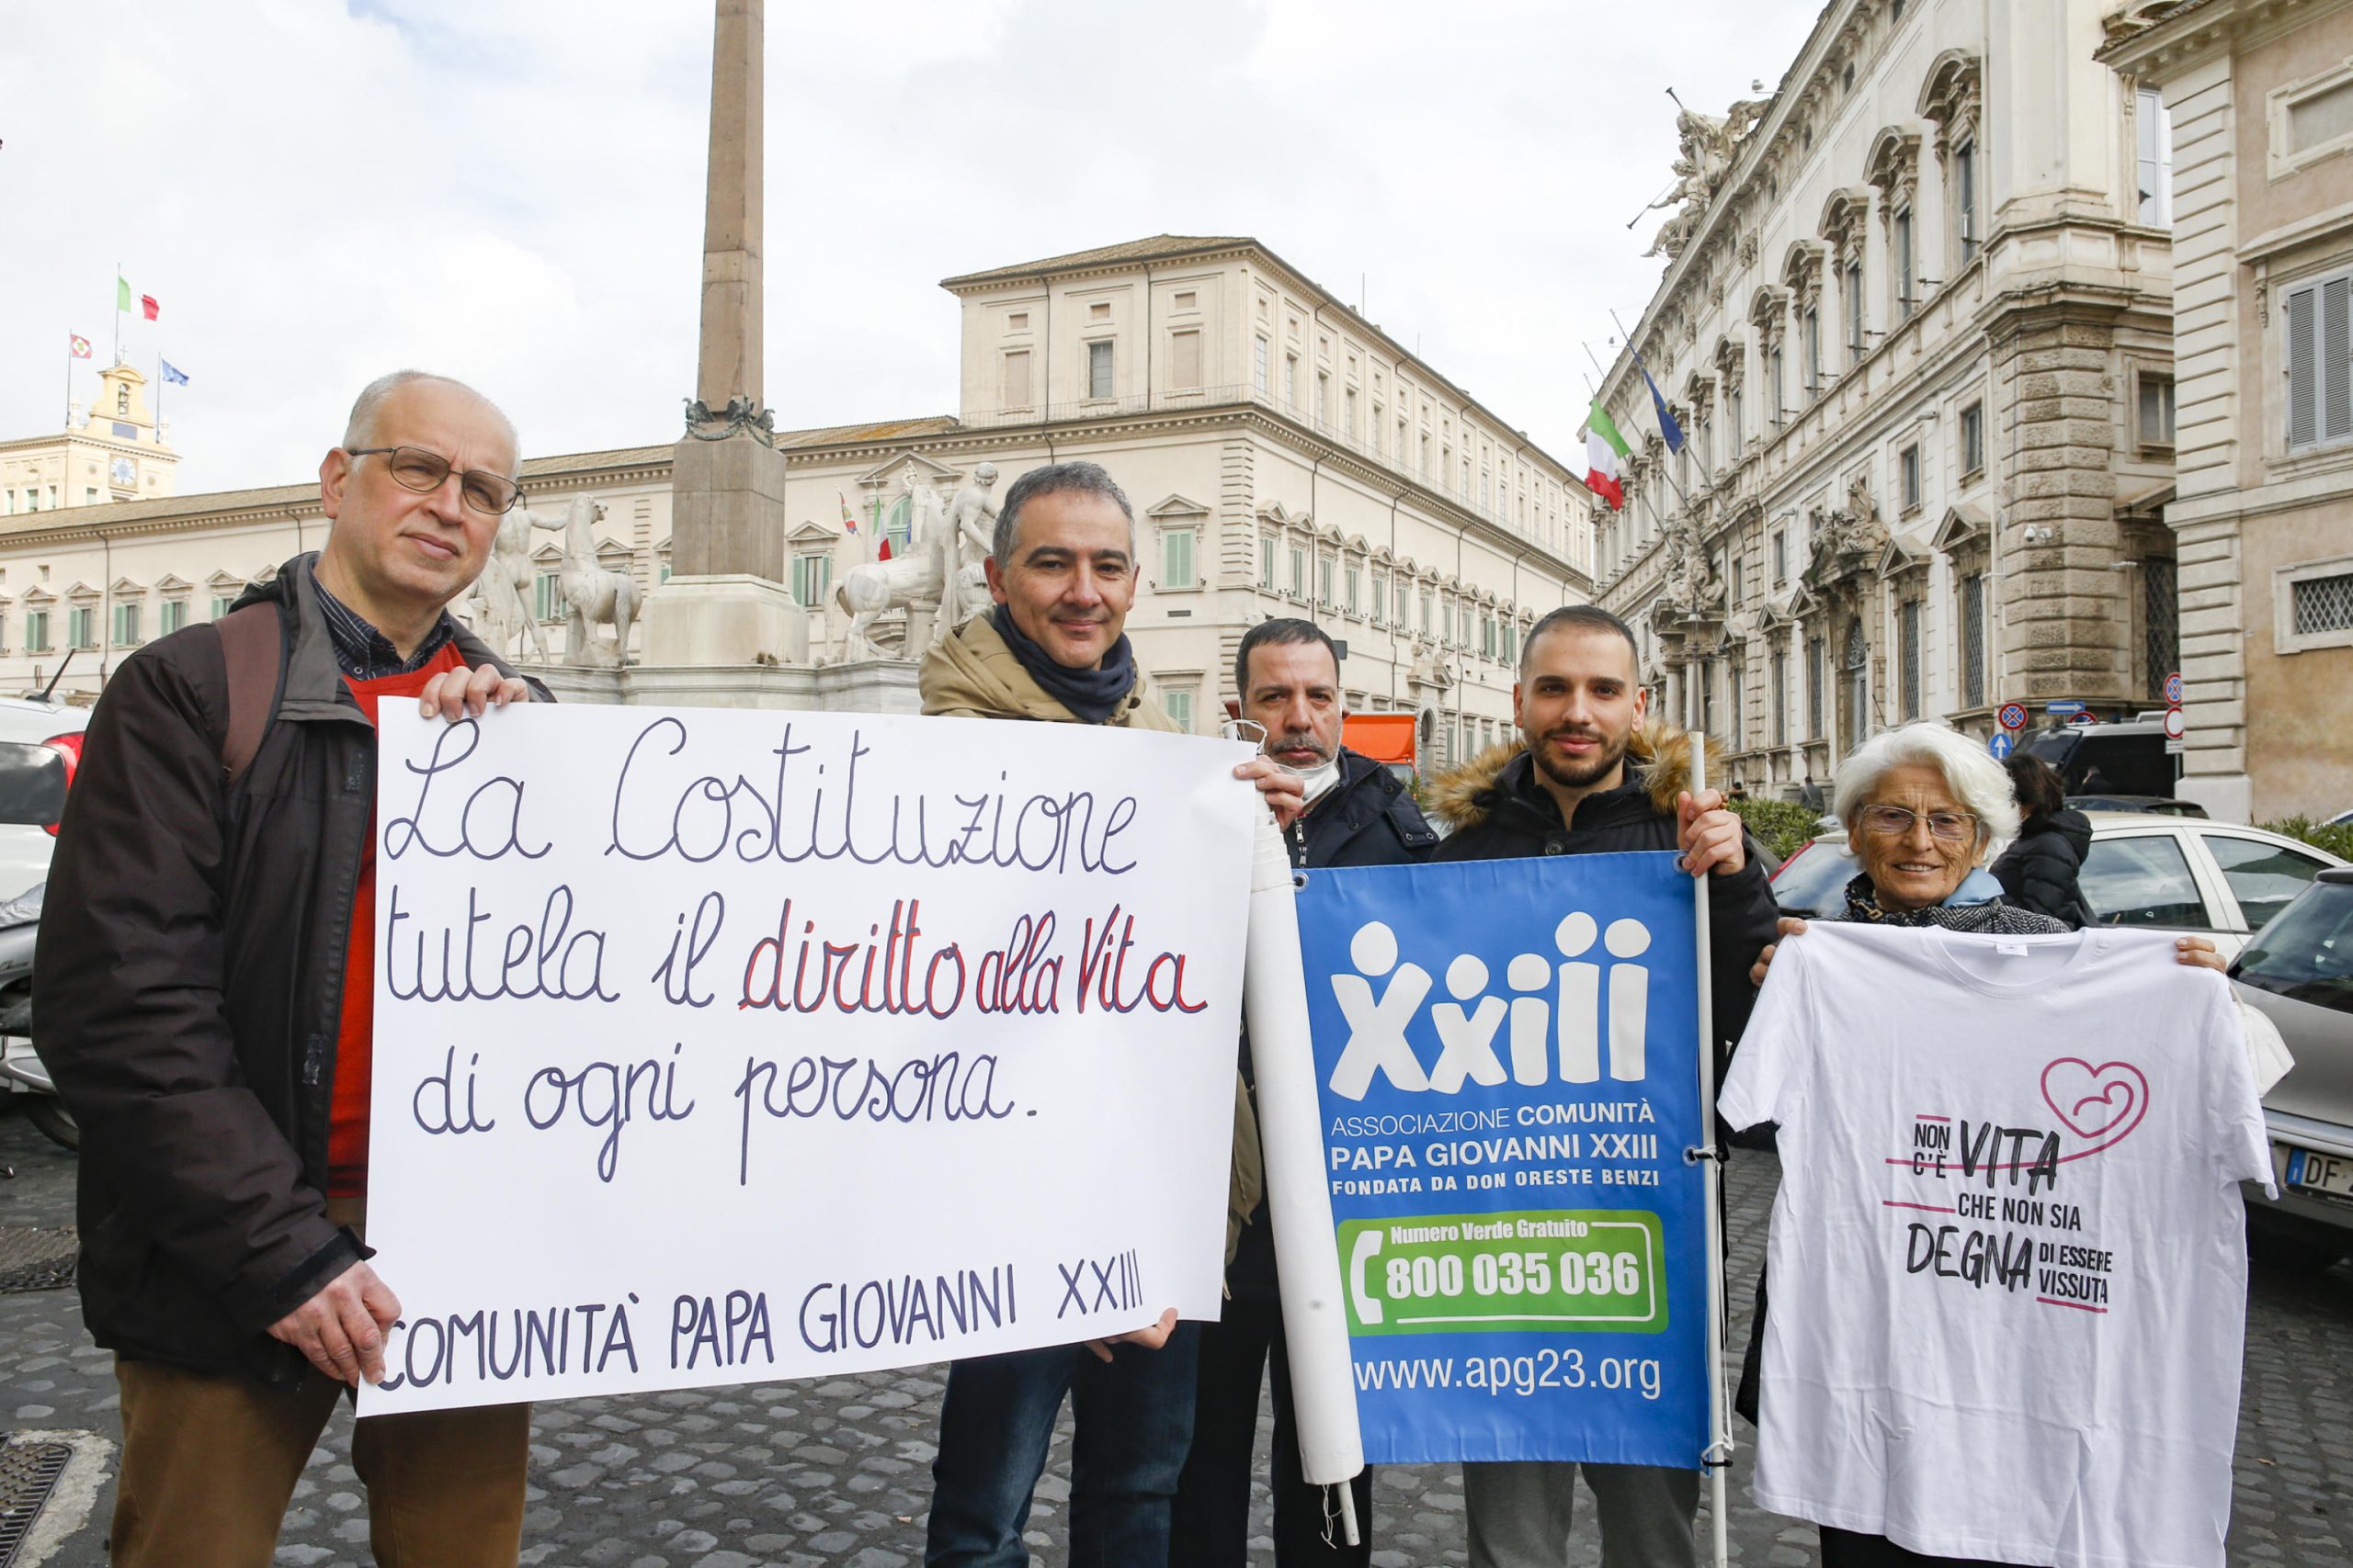
M807 663L784 583L784 454L760 381L762 0L718 0L704 327L687 433L671 465L671 581L647 604L649 665Z

